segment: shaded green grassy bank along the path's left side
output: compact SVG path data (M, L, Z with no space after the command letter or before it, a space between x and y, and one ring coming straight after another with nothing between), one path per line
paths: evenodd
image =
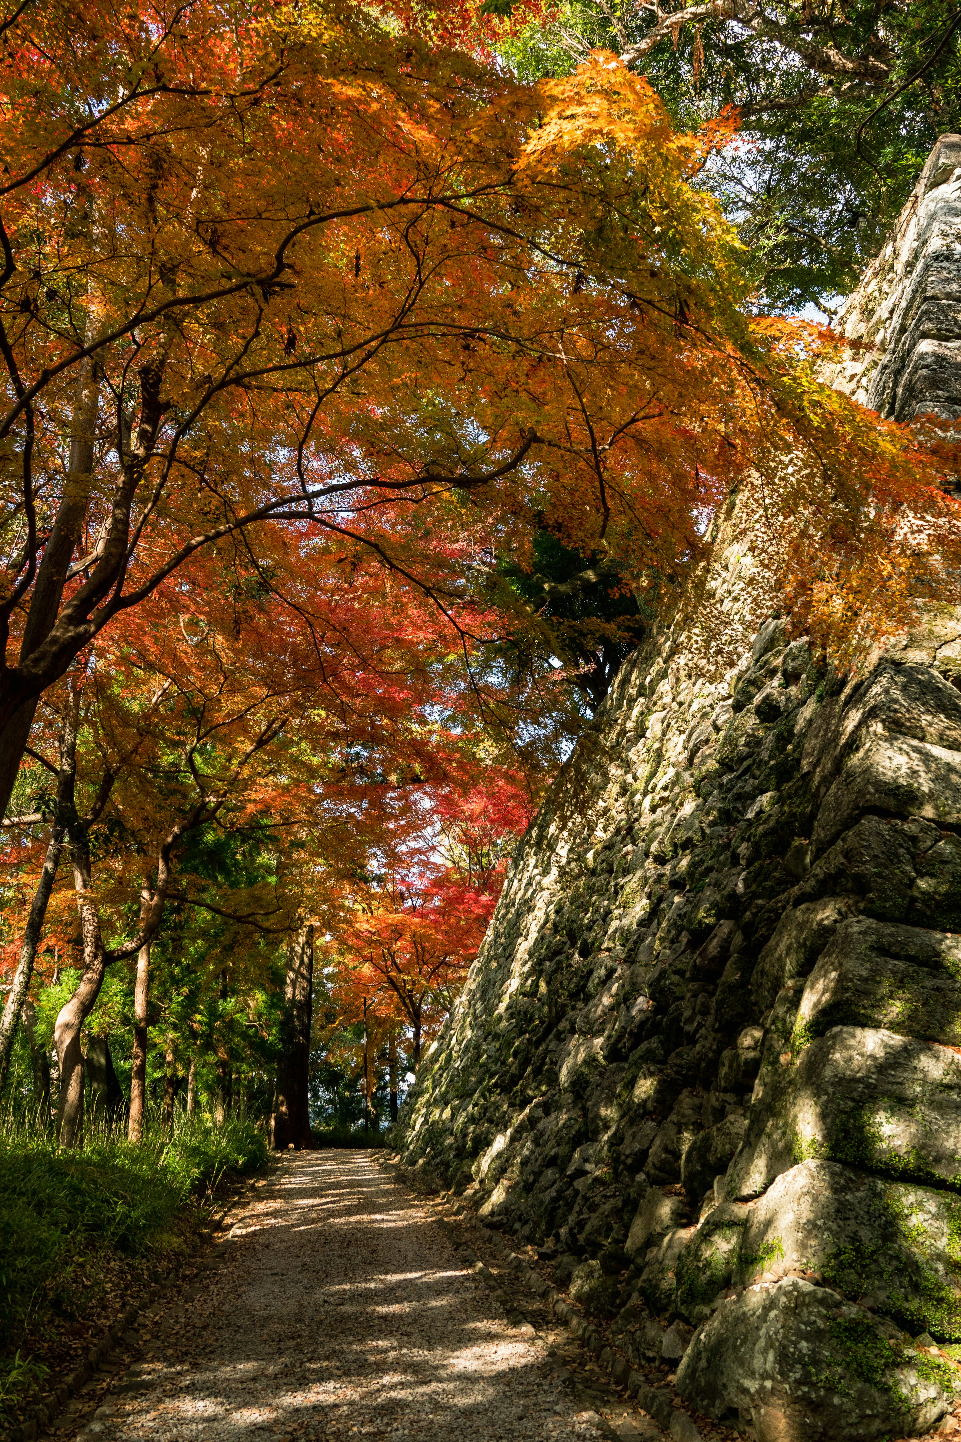
M249 1122L180 1118L141 1146L94 1135L58 1152L0 1129L0 1433L63 1348L184 1256L218 1185L267 1165Z

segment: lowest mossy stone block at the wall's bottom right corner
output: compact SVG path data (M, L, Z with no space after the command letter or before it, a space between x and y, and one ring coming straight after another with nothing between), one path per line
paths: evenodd
M934 1426L954 1371L886 1318L801 1278L722 1302L677 1368L713 1417L751 1419L758 1442L882 1442Z

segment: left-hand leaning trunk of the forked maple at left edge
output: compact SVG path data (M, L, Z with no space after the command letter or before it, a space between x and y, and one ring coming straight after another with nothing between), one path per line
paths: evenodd
M88 336L97 324L95 309L91 306L88 316ZM81 362L78 376L76 399L73 402L73 424L71 427L71 456L68 463L63 495L56 512L53 529L43 547L30 609L23 627L20 642L20 662L26 660L37 646L46 640L61 607L66 572L73 557L78 541L84 532L84 521L89 505L91 482L94 472L94 431L97 425L97 405L99 399L99 379L97 365L92 358ZM16 679L9 682L10 689L16 686ZM0 689L0 702L3 702ZM33 714L39 696L29 696L20 707L0 725L0 816L10 805L10 796L16 784L23 751L30 737Z

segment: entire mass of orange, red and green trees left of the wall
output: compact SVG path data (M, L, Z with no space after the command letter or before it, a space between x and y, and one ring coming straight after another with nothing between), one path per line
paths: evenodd
M442 22L3 22L0 1067L33 1005L63 1142L111 1028L131 1136L148 1031L164 1107L205 1066L268 1105L304 986L415 1061L733 489L761 604L839 652L944 584L938 457L756 314L702 183L733 111L679 128L609 50L506 74L533 7Z

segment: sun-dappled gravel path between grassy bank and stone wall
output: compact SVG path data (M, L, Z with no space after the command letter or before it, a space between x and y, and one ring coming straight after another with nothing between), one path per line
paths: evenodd
M589 1406L589 1361L571 1357L578 1344L555 1345L546 1322L509 1319L471 1273L473 1257L367 1152L284 1159L231 1239L166 1317L144 1321L140 1360L94 1419L78 1432L65 1417L61 1433L84 1442L663 1436L645 1417L612 1417L614 1432L607 1394Z

